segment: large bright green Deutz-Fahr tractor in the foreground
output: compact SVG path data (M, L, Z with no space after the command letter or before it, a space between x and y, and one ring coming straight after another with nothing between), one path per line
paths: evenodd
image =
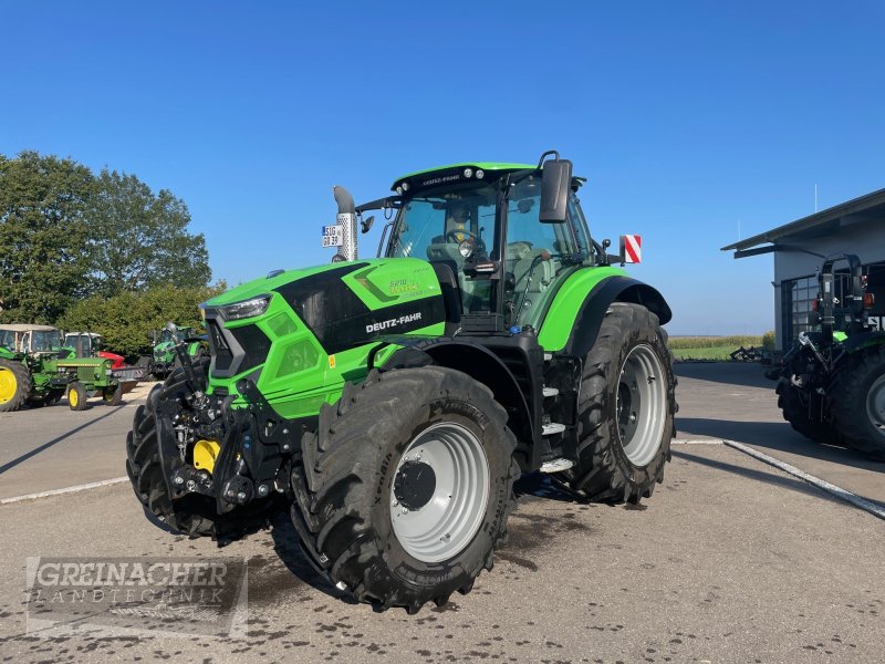
M591 238L583 181L545 153L407 175L358 207L335 187L331 266L204 304L210 360L179 345L135 414L138 499L220 541L285 509L333 584L412 613L491 569L520 473L650 497L675 435L670 310L611 264L635 245ZM389 220L379 258L358 259L373 209Z

